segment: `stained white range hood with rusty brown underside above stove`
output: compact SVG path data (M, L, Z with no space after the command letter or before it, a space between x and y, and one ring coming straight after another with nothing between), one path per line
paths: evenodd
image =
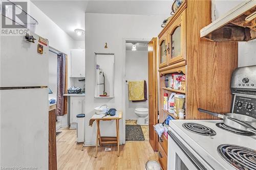
M256 1L239 4L200 31L200 37L217 42L249 41L256 38Z

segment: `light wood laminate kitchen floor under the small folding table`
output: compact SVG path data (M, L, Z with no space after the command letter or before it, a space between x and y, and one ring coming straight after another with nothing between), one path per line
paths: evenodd
M58 169L145 169L147 160L158 160L148 141L126 141L120 145L120 156L117 157L117 147L112 151L104 151L99 147L98 157L94 158L95 147L77 145L76 130L60 128L57 136L57 166Z

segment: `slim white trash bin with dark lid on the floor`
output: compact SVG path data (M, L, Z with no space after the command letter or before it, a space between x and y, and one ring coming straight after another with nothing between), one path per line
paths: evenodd
M84 117L85 114L77 114L77 128L76 128L76 143L83 144L84 142Z

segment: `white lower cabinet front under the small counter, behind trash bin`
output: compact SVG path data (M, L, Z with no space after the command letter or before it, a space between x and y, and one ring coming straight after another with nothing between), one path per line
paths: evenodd
M71 102L70 118L72 119L71 123L77 123L76 115L83 113L83 97L71 96L70 102Z

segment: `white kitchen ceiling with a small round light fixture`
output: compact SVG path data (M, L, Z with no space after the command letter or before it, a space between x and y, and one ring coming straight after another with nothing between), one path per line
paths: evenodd
M173 1L38 1L32 2L74 40L84 40L75 29L84 30L84 13L169 16ZM86 30L85 30L86 31Z

